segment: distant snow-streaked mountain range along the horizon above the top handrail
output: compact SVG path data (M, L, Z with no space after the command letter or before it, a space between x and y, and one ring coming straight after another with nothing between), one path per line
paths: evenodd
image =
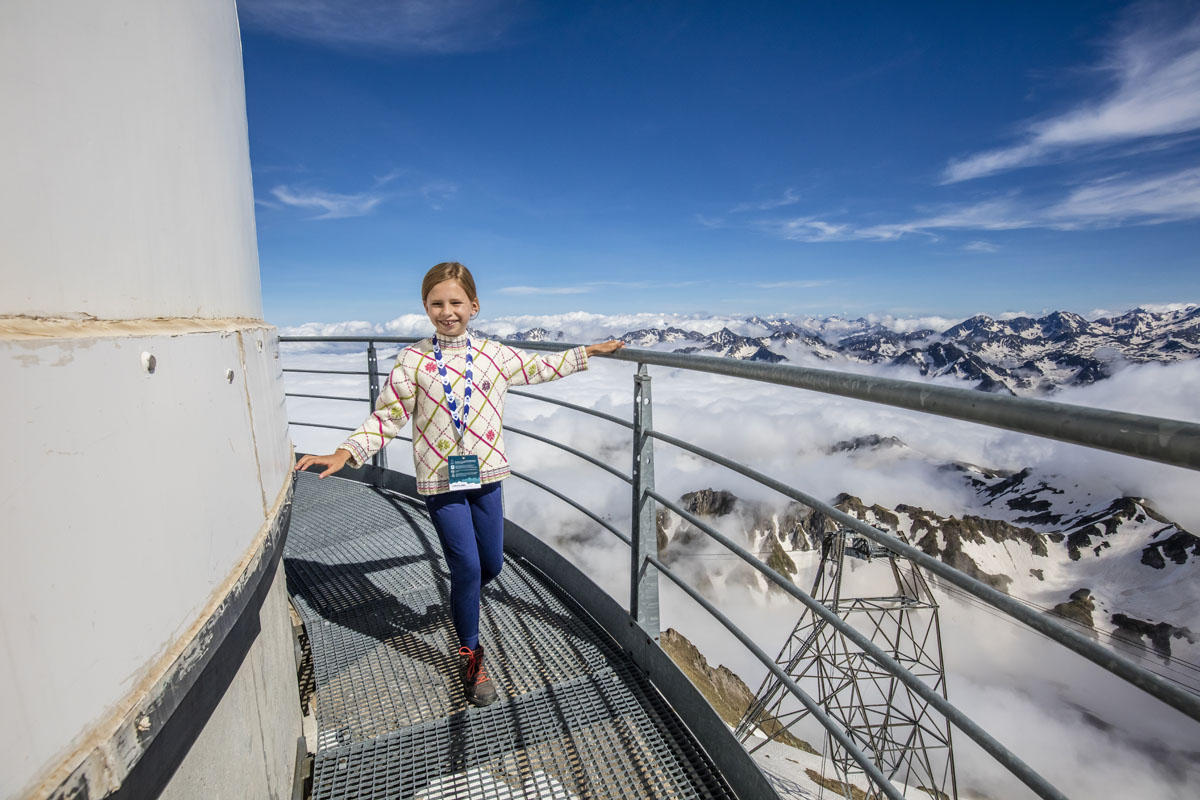
M982 391L1049 393L1062 386L1103 380L1122 362L1169 362L1200 355L1200 306L1171 311L1134 308L1088 320L1056 311L1044 317L986 315L936 330L890 326L841 317L786 319L750 317L715 332L679 326L644 327L620 336L632 347L748 361L889 363L922 375L954 377ZM560 341L562 331L535 327L509 335L522 341Z

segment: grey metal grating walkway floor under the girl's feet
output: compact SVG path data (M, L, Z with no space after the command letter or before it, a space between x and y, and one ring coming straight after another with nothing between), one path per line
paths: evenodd
M301 474L284 564L312 648L314 799L733 798L607 633L509 553L480 618L500 699L469 705L420 500Z

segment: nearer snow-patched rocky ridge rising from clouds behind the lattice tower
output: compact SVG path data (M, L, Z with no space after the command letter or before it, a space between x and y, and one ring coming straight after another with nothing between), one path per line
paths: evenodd
M839 443L838 452L875 453L901 467L924 459L895 438ZM960 485L954 512L917 504L833 499L841 511L906 539L925 553L1048 613L1079 622L1102 640L1135 654L1200 661L1195 624L1200 596L1200 537L1135 497L1108 497L1033 469L997 471L940 464ZM778 572L804 584L826 534L839 524L798 503L780 509L714 488L684 494L680 505L740 531L746 546ZM677 515L659 515L659 547L668 564L714 546ZM700 581L774 589L744 565L712 565ZM935 583L936 579L935 579ZM805 587L806 588L806 587ZM947 588L949 589L949 588Z

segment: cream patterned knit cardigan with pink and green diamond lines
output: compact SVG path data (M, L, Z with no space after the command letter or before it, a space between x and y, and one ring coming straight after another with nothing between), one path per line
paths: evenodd
M467 372L467 337L439 339L455 401L462 408ZM413 465L416 491L440 494L450 491L446 458L455 455L479 456L484 483L509 476L504 456L504 395L509 386L540 384L564 378L588 368L587 351L572 348L546 356L533 356L505 344L474 337L472 374L475 387L470 396L470 419L463 440L458 441L445 391L433 359L433 342L421 339L404 348L388 384L379 391L374 413L338 450L348 450L350 467L361 467L400 434L413 419Z

